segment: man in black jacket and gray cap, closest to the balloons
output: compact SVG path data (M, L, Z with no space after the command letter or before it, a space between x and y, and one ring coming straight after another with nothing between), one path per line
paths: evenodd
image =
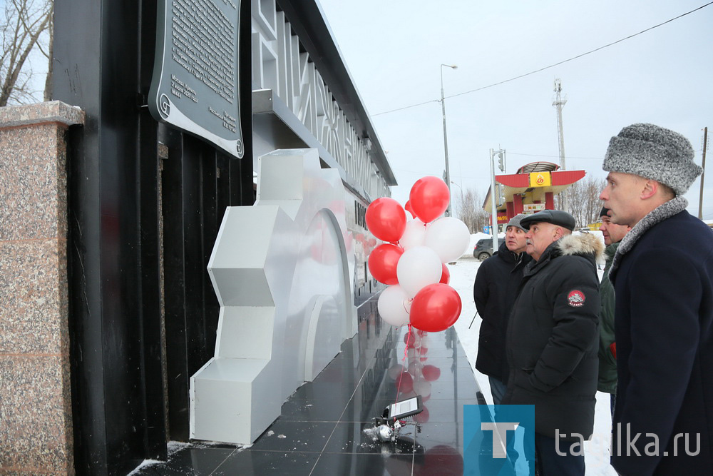
M508 361L505 336L508 316L523 278L523 268L530 262L525 253L525 229L520 220L525 215L513 216L508 222L505 242L481 263L473 283L473 300L481 316L480 338L476 369L488 375L493 404L500 405L508 381Z

